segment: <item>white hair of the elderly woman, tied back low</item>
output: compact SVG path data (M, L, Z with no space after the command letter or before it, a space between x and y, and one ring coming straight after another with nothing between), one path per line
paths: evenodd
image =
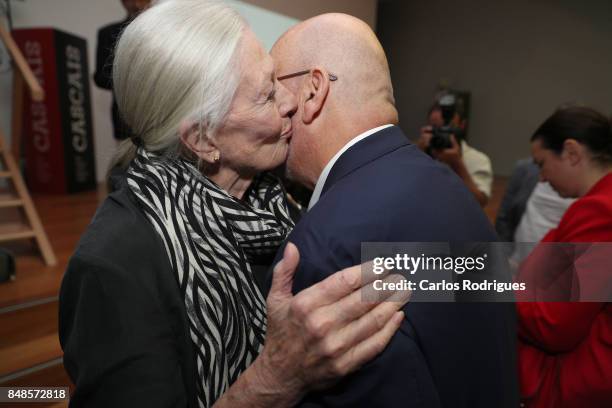
M244 19L220 1L166 0L140 14L115 49L113 89L123 120L149 151L176 157L179 127L201 135L223 123L240 79ZM112 167L126 167L136 146L123 141Z

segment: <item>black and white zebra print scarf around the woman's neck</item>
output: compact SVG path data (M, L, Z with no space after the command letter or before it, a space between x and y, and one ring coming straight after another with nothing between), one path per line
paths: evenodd
M250 264L273 257L293 227L284 191L275 177L262 175L241 202L188 161L143 148L127 178L185 299L198 402L210 407L263 347L266 302Z

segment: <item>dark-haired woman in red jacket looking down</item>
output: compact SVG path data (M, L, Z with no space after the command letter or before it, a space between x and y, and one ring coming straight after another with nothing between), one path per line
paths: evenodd
M580 197L543 242L612 242L610 120L588 108L559 110L540 126L531 142L541 180L563 197ZM612 253L605 254L605 259L610 269L597 279L609 288ZM519 280L530 269L523 267ZM610 303L517 305L524 406L612 407Z

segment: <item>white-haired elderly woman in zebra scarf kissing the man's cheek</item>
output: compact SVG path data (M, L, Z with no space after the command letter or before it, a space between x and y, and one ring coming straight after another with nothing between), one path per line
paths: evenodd
M359 267L294 296L289 245L267 301L257 285L293 227L265 171L296 102L244 20L153 6L122 34L113 82L132 137L62 283L71 405L292 406L382 351L402 302L362 302Z

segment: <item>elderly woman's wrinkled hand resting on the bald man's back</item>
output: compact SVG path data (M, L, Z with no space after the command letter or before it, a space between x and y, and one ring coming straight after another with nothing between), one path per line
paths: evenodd
M398 310L410 296L407 291L389 292L381 302L364 301L364 290L380 275L362 273L361 265L294 296L298 262L297 248L287 244L267 300L266 344L253 364L274 406L299 402L307 391L333 384L383 351L404 318ZM387 282L399 279L384 277Z

